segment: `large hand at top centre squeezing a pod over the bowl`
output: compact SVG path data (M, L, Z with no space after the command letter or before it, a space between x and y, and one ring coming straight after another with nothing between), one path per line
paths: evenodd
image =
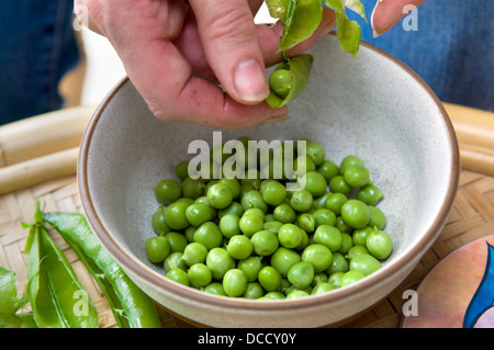
M89 27L113 45L156 117L222 128L287 118L287 108L272 109L265 102L265 67L282 59L282 24L255 25L260 0L189 3L76 0L88 9ZM334 26L334 13L325 11L316 33L289 54L304 52Z

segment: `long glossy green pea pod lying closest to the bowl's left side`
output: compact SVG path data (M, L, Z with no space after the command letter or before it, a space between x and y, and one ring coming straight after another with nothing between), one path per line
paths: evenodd
M87 260L98 267L120 301L131 328L160 328L161 323L153 300L145 294L122 270L113 257L100 244L86 216L79 213L45 213L45 222L54 226L70 245L77 246Z

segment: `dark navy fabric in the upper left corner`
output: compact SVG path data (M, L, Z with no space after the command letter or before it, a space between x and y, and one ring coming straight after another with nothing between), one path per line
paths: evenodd
M0 11L0 124L59 109L79 52L72 0L5 0Z

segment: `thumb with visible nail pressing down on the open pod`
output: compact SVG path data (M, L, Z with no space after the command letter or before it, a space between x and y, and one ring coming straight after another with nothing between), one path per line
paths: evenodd
M190 0L204 54L226 92L255 104L269 94L254 15L246 0Z

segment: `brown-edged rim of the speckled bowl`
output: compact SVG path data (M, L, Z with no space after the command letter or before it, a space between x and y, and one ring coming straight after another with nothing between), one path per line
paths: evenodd
M256 300L217 296L204 293L194 290L192 287L181 285L169 279L166 279L162 274L158 273L157 271L146 266L137 257L127 252L126 249L120 247L115 241L115 239L112 237L111 233L106 230L94 208L87 177L88 155L94 128L97 127L99 118L101 117L103 111L105 110L112 98L120 91L120 89L122 89L122 87L124 87L126 83L130 82L130 78L126 76L122 78L122 80L117 82L112 88L112 90L110 90L110 92L106 94L106 97L103 99L103 101L99 104L99 106L94 111L94 114L91 117L88 127L85 132L85 135L82 137L78 157L77 181L79 185L79 193L81 197L82 208L86 213L89 225L93 228L94 234L100 239L102 245L115 258L115 260L122 266L122 268L125 271L131 272L132 274L138 276L141 280L145 280L146 284L148 285L153 285L158 290L166 291L168 294L175 294L177 297L180 297L182 300L188 300L190 302L195 303L204 303L223 309L229 308L237 311L244 309L244 311L262 311L262 312L285 311L289 308L317 307L323 304L341 301L348 295L362 294L366 292L366 290L369 290L372 286L381 284L384 280L386 280L394 273L405 269L409 263L414 261L414 259L417 259L417 257L422 258L422 256L426 252L426 249L429 249L430 246L439 236L444 225L446 224L446 221L448 218L449 212L452 207L456 197L459 184L460 160L459 160L459 146L454 128L438 97L414 70L412 70L408 66L398 60L396 57L392 56L391 54L384 52L383 49L370 43L362 41L361 45L367 49L373 50L378 55L383 56L384 58L391 60L393 64L397 65L411 77L413 77L414 80L416 80L419 83L419 86L422 86L424 91L435 102L439 111L439 114L442 117L442 122L449 136L449 146L451 149L451 159L450 159L451 172L448 179L448 192L446 194L445 202L442 203L439 210L439 214L430 225L429 229L424 234L424 236L412 249L406 251L401 257L401 259L395 260L392 264L384 266L379 271L360 280L359 283L350 284L345 289L337 289L332 291L330 293L311 295L310 297L280 300L280 301L262 301L262 302Z

